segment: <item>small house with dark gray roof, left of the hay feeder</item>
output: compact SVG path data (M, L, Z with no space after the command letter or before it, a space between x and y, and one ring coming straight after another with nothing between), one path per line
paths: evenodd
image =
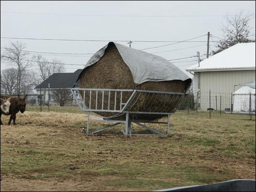
M45 103L48 104L48 99L50 104L55 103L51 98L51 94L56 89L70 89L76 83L78 75L81 73L82 69L78 69L74 73L55 73L49 76L45 81L41 84L37 85L34 89L36 90L36 94L43 95L45 92ZM79 82L76 83L75 87L79 86ZM76 92L76 96L79 97L78 92ZM74 100L74 98L73 98ZM37 96L36 104L40 103L40 96Z

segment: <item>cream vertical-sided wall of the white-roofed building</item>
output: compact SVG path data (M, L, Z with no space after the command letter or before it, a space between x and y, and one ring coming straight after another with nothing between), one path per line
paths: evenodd
M209 108L209 90L211 89L211 107L219 110L220 95L222 95L222 109L231 108L231 93L241 88L234 85L255 81L255 70L240 70L240 71L209 71L200 72L200 109L206 110ZM194 73L195 89L194 96L196 98L198 91L198 76L199 72ZM217 96L217 102L216 98Z

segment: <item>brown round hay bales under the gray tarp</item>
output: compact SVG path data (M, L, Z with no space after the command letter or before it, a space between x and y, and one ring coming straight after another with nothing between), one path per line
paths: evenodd
M133 75L129 67L122 60L117 48L113 43L110 43L105 50L105 54L101 59L89 67L87 67L80 75L80 88L109 88L109 89L137 89L137 90L150 90L150 91L165 91L165 92L184 92L190 85L189 81L173 80L173 81L162 81L162 82L145 82L141 85L135 85ZM83 97L82 92L80 92ZM106 97L105 97L106 96ZM131 93L123 93L122 101L125 102L131 96ZM108 97L108 93L104 93L104 98ZM96 106L96 94L93 92L91 106ZM102 94L98 93L97 106L102 106ZM111 98L114 98L114 93L111 94ZM118 95L117 98L120 98ZM107 100L107 99L106 99ZM154 101L150 105L145 106L148 101ZM86 106L89 107L89 92L86 92L85 99ZM179 102L174 103L173 100L159 100L152 97L141 97L135 104L136 110L138 111L154 111L155 108L163 106L163 111L174 112ZM108 108L108 103L103 103L104 109ZM111 99L110 108L114 108L114 99ZM172 107L170 111L170 107ZM120 101L117 100L117 109L120 108ZM116 115L116 113L109 112L97 112L97 114L103 117L110 117ZM154 118L160 118L160 116L154 116ZM121 119L124 116L119 117ZM143 119L143 115L134 115L132 118ZM148 118L148 117L147 117Z

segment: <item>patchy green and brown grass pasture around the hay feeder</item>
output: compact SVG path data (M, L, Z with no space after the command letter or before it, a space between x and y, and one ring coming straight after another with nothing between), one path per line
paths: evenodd
M177 112L169 136L122 136L124 125L92 136L82 132L87 115L78 107L38 108L17 114L17 126L2 117L1 191L153 191L255 179L255 116Z

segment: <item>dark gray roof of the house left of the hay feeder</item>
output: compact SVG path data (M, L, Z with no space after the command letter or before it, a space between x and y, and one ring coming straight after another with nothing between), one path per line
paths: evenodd
M48 84L50 83L50 88L72 88L76 83L78 75L82 72L82 69L78 69L74 73L56 73L49 76L45 81L43 81L40 85L37 85L35 89L45 89L48 88ZM75 85L78 87L79 81Z

